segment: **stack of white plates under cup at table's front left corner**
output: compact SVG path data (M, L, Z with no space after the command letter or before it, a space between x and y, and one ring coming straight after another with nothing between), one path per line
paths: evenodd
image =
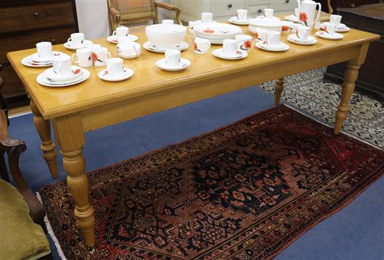
M65 76L55 72L53 68L49 68L38 75L36 80L43 86L61 87L84 82L85 79L88 79L89 75L88 70L77 66L72 66L71 73Z

